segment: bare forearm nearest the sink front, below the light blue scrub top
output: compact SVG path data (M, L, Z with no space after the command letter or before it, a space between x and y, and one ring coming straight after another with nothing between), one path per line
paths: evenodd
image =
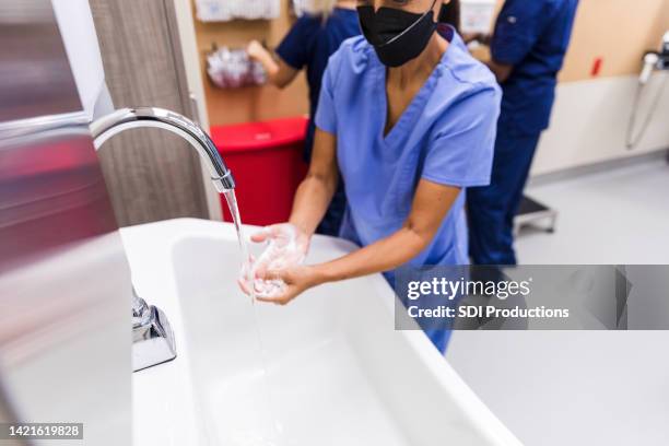
M336 260L314 266L318 283L336 282L396 269L418 256L432 239L404 226L392 235Z

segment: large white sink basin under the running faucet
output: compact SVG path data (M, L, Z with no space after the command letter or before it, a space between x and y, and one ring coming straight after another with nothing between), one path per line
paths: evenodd
M177 343L176 360L133 374L137 445L520 444L422 332L394 329L380 275L254 306L236 285L232 225L184 219L121 234L139 294ZM307 261L351 249L317 236Z

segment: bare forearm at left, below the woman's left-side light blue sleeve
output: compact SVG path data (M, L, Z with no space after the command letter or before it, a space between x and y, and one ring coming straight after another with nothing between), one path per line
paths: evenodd
M313 235L332 201L337 181L337 178L328 179L308 174L295 193L290 223L308 236Z

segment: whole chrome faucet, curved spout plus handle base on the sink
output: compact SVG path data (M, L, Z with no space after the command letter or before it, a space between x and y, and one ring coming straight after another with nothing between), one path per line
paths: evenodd
M207 163L219 192L235 188L232 173L215 144L197 124L163 108L122 108L93 121L90 126L95 150L111 137L128 129L160 128L178 134L198 151ZM174 334L165 314L137 295L132 289L132 367L134 372L174 360Z

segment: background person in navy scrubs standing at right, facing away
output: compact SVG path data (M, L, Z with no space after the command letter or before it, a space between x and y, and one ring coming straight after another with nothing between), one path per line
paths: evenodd
M549 127L578 0L506 0L488 62L504 95L490 186L468 191L476 265L516 265L514 218L541 132Z

